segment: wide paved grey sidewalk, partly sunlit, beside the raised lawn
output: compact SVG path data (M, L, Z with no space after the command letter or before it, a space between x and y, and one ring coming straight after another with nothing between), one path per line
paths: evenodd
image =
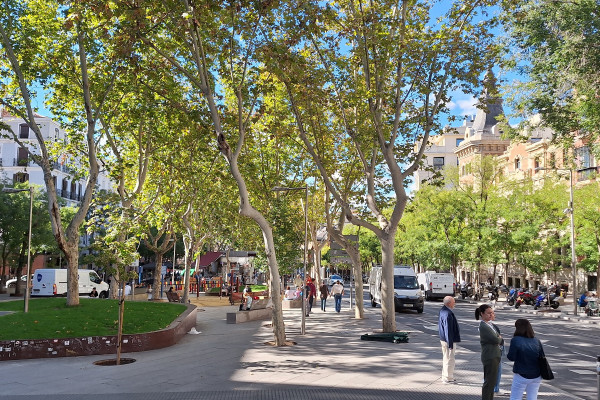
M437 326L411 331L409 343L361 341L360 335L381 329L381 310L365 308L365 319L355 320L344 299L340 314L332 303L325 313L315 310L306 319L305 335L300 335L299 310L285 311L287 339L296 345L272 347L265 344L273 339L270 321L226 324L226 312L236 306L211 306L227 302L217 299L196 300L202 310L199 334L166 349L125 354L136 360L132 364L93 364L114 358L106 355L2 362L0 399L481 398L479 352L459 348L458 384L441 383ZM503 374L501 388L509 390L510 381L511 375ZM539 398L578 399L546 382Z

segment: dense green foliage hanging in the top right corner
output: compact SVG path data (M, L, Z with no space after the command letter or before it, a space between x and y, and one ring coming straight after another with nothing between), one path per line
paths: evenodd
M581 135L596 146L600 138L600 8L597 0L504 2L509 32L509 66L526 81L512 88L513 106L523 122L532 114L571 145Z

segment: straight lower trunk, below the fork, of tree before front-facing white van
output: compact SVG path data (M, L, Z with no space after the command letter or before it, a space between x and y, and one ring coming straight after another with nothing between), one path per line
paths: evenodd
M381 242L381 320L384 332L396 331L394 306L394 236L384 233Z

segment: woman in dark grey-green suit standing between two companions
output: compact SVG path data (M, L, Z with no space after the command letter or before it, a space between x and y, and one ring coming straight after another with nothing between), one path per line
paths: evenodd
M498 368L500 368L502 357L501 346L504 345L504 339L500 335L500 329L492 322L495 314L489 304L482 304L475 309L475 319L481 319L479 323L479 342L481 343L481 362L483 364L481 399L491 400L494 398L494 386L498 380Z

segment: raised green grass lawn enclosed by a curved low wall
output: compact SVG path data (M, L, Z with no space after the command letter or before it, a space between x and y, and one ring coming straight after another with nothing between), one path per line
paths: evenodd
M67 307L62 298L30 299L29 312L23 300L0 302L0 340L58 339L117 334L118 300L81 298L79 306ZM123 333L152 332L166 328L186 307L175 303L126 301Z

